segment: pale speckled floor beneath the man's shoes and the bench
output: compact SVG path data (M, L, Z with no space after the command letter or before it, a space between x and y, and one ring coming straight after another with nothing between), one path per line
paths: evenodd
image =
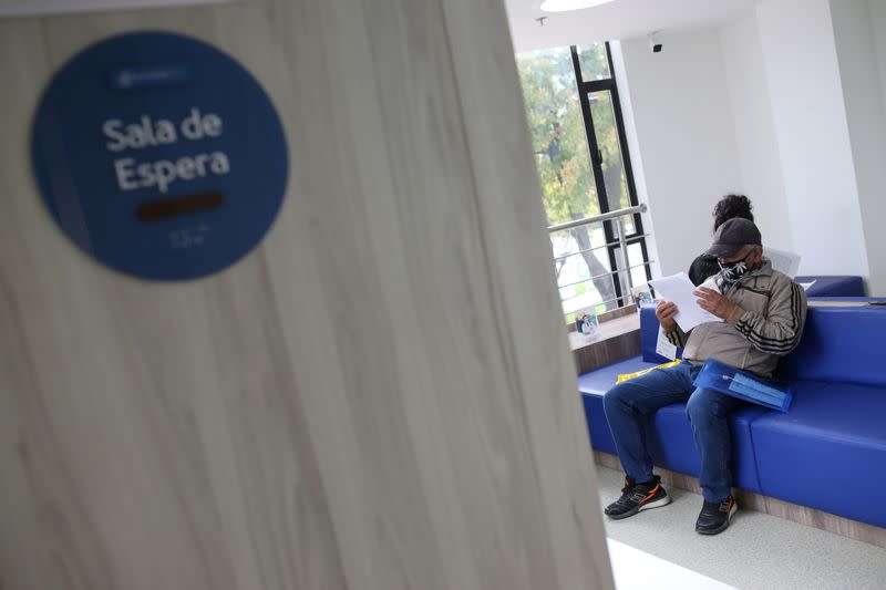
M619 496L624 476L600 466L597 475L600 503L609 504ZM886 549L750 510L739 510L721 535L705 537L693 528L701 496L680 489L668 493L673 497L669 506L625 520L607 519L607 536L742 590L886 589ZM614 556L616 568L624 568L622 563L632 559L629 551L618 548ZM633 559L645 560L637 553ZM652 586L636 582L637 571L625 572L616 570L619 590L660 587L660 581Z

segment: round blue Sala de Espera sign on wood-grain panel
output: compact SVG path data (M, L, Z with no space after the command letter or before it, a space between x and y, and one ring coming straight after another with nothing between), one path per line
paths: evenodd
M178 34L122 34L76 54L47 87L31 141L62 231L145 279L234 263L286 193L286 137L267 94L234 59Z

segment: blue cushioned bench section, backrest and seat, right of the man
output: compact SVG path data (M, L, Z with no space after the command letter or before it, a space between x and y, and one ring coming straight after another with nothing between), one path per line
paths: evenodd
M884 335L884 307L810 308L779 370L791 408L751 425L763 494L886 526L886 507L858 493L886 486Z

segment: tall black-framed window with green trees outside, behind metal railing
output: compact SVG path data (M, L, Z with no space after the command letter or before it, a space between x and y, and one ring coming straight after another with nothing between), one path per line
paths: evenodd
M608 43L517 55L549 226L637 205L625 125ZM628 272L648 281L639 214L624 218ZM598 313L628 302L618 224L593 222L550 234L563 310Z

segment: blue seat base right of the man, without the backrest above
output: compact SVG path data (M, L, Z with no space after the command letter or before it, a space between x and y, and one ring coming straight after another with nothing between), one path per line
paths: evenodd
M800 382L793 392L789 413L752 425L763 494L886 527L886 390Z

